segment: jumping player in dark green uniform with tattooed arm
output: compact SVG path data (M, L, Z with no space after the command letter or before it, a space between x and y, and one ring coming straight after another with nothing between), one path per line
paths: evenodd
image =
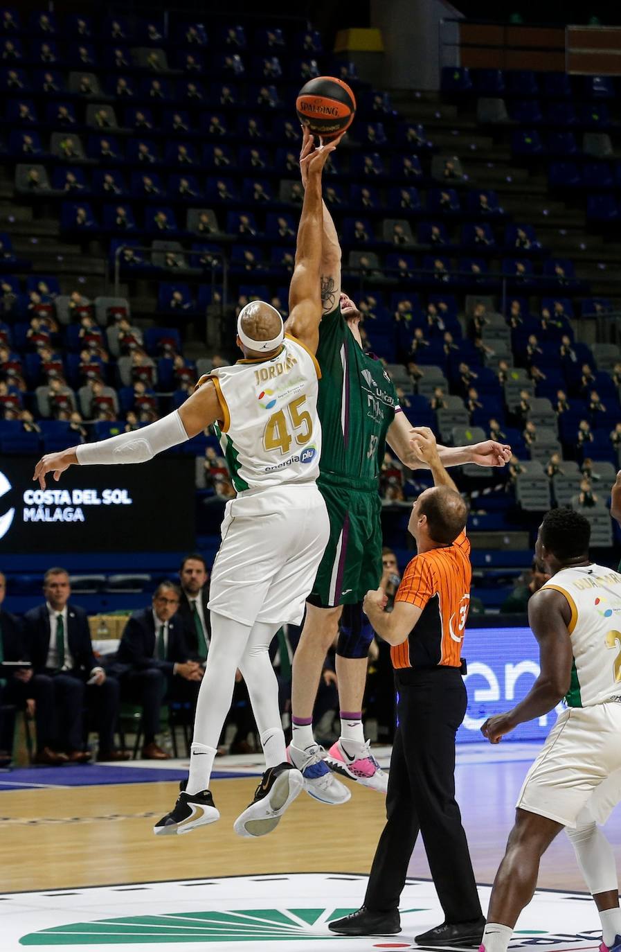
M313 149L310 133L304 129L302 134L301 157ZM378 477L386 443L404 466L424 466L412 445L412 425L398 407L390 377L381 363L362 349L359 309L340 288L340 257L337 230L324 203L320 268L323 317L317 351L323 444L318 486L330 516L330 540L306 605L294 657L293 739L288 748L289 759L304 774L308 793L324 801L319 787L326 764L365 786L386 789L387 777L371 756L361 722L367 655L373 637L361 603L370 588L378 587L381 577ZM444 466L504 466L511 455L509 446L493 440L438 449ZM313 737L313 705L326 652L337 637L340 739L325 755ZM318 789L314 789L314 783ZM340 799L326 802L342 800L341 791Z

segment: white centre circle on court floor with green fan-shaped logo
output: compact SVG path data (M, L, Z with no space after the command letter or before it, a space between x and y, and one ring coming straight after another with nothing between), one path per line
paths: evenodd
M402 932L388 938L337 936L328 923L358 909L367 878L355 873L273 873L222 879L5 893L2 952L25 945L140 946L145 952L184 943L224 952L314 952L338 942L340 952L412 950L414 937L443 914L433 883L410 879L401 894ZM479 886L487 908L489 886ZM542 890L520 917L512 949L587 952L601 936L591 897ZM29 929L25 935L26 929ZM559 931L554 931L558 929ZM595 943L595 944L594 944ZM205 950L206 952L206 950Z

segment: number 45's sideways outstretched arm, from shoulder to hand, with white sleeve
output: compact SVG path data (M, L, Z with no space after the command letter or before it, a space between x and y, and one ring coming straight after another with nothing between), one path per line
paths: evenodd
M53 472L56 482L69 466L110 466L115 463L146 463L157 453L191 439L217 420L227 424L228 409L219 397L213 381L198 387L183 407L168 413L142 429L111 436L98 443L70 446L58 453L47 453L34 467L33 480L46 487L46 474Z

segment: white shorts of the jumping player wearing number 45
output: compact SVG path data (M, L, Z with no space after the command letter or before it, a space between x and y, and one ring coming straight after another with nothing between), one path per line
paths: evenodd
M242 493L224 509L210 610L242 625L300 625L329 535L315 483Z

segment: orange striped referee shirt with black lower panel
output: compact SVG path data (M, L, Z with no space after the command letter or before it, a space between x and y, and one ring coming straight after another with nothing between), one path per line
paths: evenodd
M391 647L394 667L460 666L472 576L465 530L453 545L415 556L405 569L395 602L417 605L422 613L402 645Z

